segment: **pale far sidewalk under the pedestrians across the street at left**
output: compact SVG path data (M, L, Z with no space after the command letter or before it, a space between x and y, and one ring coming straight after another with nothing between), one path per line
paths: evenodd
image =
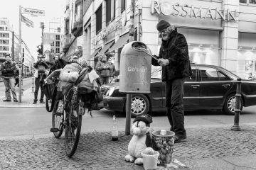
M17 99L18 99L18 91L16 91ZM41 90L38 91L38 97L40 98ZM32 92L32 87L23 91L23 95L21 96L21 103L17 103L14 101L4 102L5 96L0 96L0 108L43 108L46 107L46 104L38 103L33 104L34 93ZM46 97L44 98L46 101Z

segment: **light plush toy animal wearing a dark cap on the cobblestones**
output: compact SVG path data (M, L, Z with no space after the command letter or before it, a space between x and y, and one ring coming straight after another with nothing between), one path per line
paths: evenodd
M144 114L134 119L132 125L133 136L128 145L128 154L124 157L127 162L143 164L142 151L146 147L152 147L152 140L149 134L152 117Z

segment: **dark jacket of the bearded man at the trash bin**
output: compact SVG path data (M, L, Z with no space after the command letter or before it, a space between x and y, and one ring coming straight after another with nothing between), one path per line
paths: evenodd
M162 67L162 81L191 76L186 38L177 30L173 30L169 36L169 40L162 40L158 57L169 60L169 64ZM159 66L154 59L152 64Z

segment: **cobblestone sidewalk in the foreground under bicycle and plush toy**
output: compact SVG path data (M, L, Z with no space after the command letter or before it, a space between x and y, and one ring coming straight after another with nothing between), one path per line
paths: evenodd
M187 128L186 142L174 145L176 162L158 169L256 169L255 124L240 126L242 131L230 130L229 125ZM143 166L124 161L131 137L120 132L118 141L112 141L110 132L82 134L71 159L65 155L63 136L0 137L0 169L142 170Z

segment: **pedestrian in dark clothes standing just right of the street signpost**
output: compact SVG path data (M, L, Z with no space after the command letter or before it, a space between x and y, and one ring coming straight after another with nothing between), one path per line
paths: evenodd
M38 62L36 62L33 67L35 67L36 72L34 74L35 76L35 92L34 92L34 101L33 104L36 104L38 101L38 91L39 91L39 87L41 89L41 98L40 98L40 103L45 103L43 101L43 84L44 84L44 79L46 79L46 69L48 69L48 64L46 64L45 60L45 56L42 55L38 55Z

